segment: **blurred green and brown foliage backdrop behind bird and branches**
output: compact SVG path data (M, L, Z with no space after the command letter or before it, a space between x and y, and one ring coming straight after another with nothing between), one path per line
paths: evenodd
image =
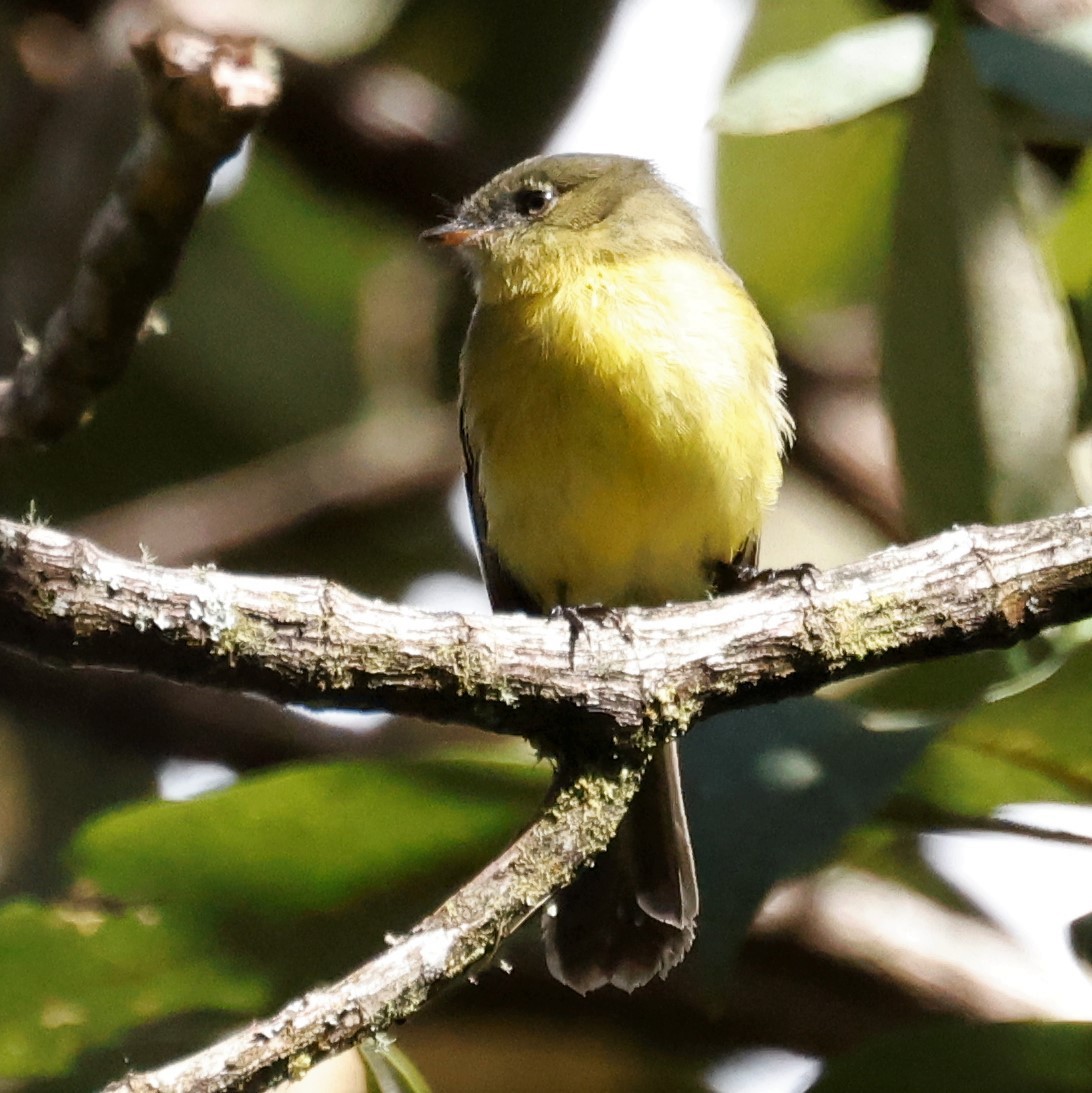
M416 235L543 146L634 2L7 3L12 362L137 132L133 23L253 26L287 54L283 102L164 305L169 334L77 435L4 467L0 509L166 564L483 603L451 410L469 294ZM655 44L633 59L649 80L668 61ZM799 423L766 561L1088 502L1092 4L759 0L713 125L726 252ZM1073 811L1021 842L1013 816L1037 813L1010 807L1092 800L1089 636L698 729L683 762L703 929L682 968L580 999L529 927L502 954L512 975L483 968L398 1053L308 1081L808 1088L814 1069L786 1084L777 1056L750 1078L731 1065L763 1045L832 1059L827 1093L1087 1090L1083 973L1036 963L929 847L968 830L1045 853L1079 828ZM459 727L318 720L0 649L0 1086L84 1091L349 971L503 847L547 780ZM1071 853L1056 872L1084 880L1061 924L1092 907L1089 851Z

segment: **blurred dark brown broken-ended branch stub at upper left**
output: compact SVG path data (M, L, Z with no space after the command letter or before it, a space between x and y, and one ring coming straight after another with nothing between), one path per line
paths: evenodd
M69 298L0 386L0 442L57 439L118 378L213 172L280 91L274 55L253 40L167 31L133 54L152 124L92 222Z

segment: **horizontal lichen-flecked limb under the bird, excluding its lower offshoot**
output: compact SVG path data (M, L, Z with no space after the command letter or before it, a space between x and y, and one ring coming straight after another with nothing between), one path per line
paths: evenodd
M624 625L437 614L329 581L165 569L0 521L0 642L69 663L460 720L571 752L665 739L728 706L1012 645L1092 613L1092 509L961 528ZM552 738L559 713L571 727Z

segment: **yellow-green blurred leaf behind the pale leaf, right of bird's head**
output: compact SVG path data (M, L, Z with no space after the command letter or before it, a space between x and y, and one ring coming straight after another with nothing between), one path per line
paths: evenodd
M760 4L737 72L882 13L866 0ZM813 312L874 298L903 132L901 109L889 107L829 129L720 136L725 250L778 337L791 338Z

